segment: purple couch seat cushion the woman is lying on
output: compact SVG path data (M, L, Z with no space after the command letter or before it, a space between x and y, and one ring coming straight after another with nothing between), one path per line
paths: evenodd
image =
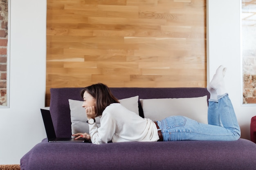
M21 170L255 170L256 145L238 141L37 144Z

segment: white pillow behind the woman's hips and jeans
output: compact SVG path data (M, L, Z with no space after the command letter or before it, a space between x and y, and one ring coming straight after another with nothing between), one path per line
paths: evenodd
M208 124L207 96L191 98L139 99L144 117L151 120L181 115Z

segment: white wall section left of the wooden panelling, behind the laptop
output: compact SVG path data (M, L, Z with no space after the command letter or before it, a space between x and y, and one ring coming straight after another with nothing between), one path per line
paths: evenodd
M46 0L9 0L10 108L0 108L0 164L20 158L46 137Z

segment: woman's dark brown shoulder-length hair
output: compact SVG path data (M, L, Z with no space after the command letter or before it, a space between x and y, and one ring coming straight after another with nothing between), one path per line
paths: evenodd
M96 100L96 108L95 108L96 117L101 116L103 113L103 110L105 110L105 108L108 105L112 103L119 103L118 99L114 95L112 95L110 89L105 84L98 83L98 84L92 84L91 86L85 87L80 93L82 98L83 98L83 93L85 93L85 91L87 91L87 93L92 95L92 97L94 97L94 99Z

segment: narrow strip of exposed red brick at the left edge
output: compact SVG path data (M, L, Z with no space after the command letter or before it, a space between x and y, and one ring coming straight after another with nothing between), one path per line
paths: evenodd
M0 106L7 106L8 0L0 0Z

